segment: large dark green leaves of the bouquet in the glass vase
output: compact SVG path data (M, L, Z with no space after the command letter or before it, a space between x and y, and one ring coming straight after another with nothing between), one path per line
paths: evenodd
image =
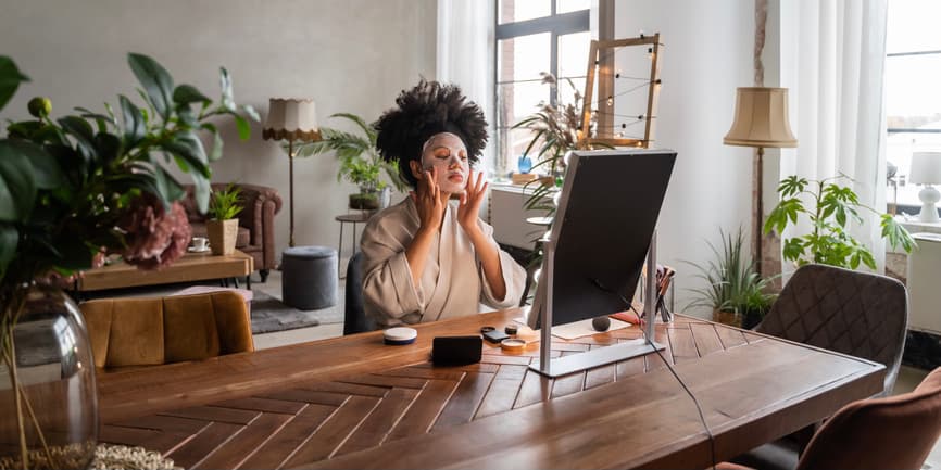
M222 156L222 139L209 120L244 119L240 113L256 117L251 107L235 105L225 68L216 105L197 88L175 85L147 55L130 53L127 63L139 81L141 105L118 96L117 106L77 107L53 119L51 103L38 97L32 100L36 118L10 122L0 135L0 304L17 283L51 270L85 269L101 249L123 249L117 227L135 199L149 193L170 204L184 195L166 165L192 178L205 212L209 162ZM0 56L0 110L25 80L10 58ZM210 154L199 138L205 131L215 142Z

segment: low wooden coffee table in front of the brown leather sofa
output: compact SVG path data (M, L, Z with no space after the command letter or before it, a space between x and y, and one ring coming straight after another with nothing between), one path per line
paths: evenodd
M230 255L187 253L172 265L154 271L140 270L123 262L87 270L76 283L76 290L87 292L242 277L251 288L249 275L253 270L254 259L238 250Z

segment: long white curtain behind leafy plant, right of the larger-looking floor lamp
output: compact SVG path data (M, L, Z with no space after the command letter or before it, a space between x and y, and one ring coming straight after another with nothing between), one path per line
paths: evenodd
M781 178L819 180L842 173L855 180L852 187L862 204L884 212L887 0L780 4L781 86L790 90L798 137L796 149L781 152ZM865 223L852 227L851 233L873 251L882 271L886 246L879 217L866 209L860 215ZM785 238L810 231L804 223Z

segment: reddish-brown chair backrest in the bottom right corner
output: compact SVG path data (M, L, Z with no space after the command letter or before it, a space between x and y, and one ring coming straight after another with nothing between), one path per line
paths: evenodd
M941 433L941 368L915 391L851 403L824 423L798 469L920 469Z

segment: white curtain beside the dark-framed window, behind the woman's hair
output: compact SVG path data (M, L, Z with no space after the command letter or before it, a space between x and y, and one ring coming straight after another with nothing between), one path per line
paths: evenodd
M437 79L459 85L490 125L478 168L487 168L494 155L495 14L492 0L438 0Z

